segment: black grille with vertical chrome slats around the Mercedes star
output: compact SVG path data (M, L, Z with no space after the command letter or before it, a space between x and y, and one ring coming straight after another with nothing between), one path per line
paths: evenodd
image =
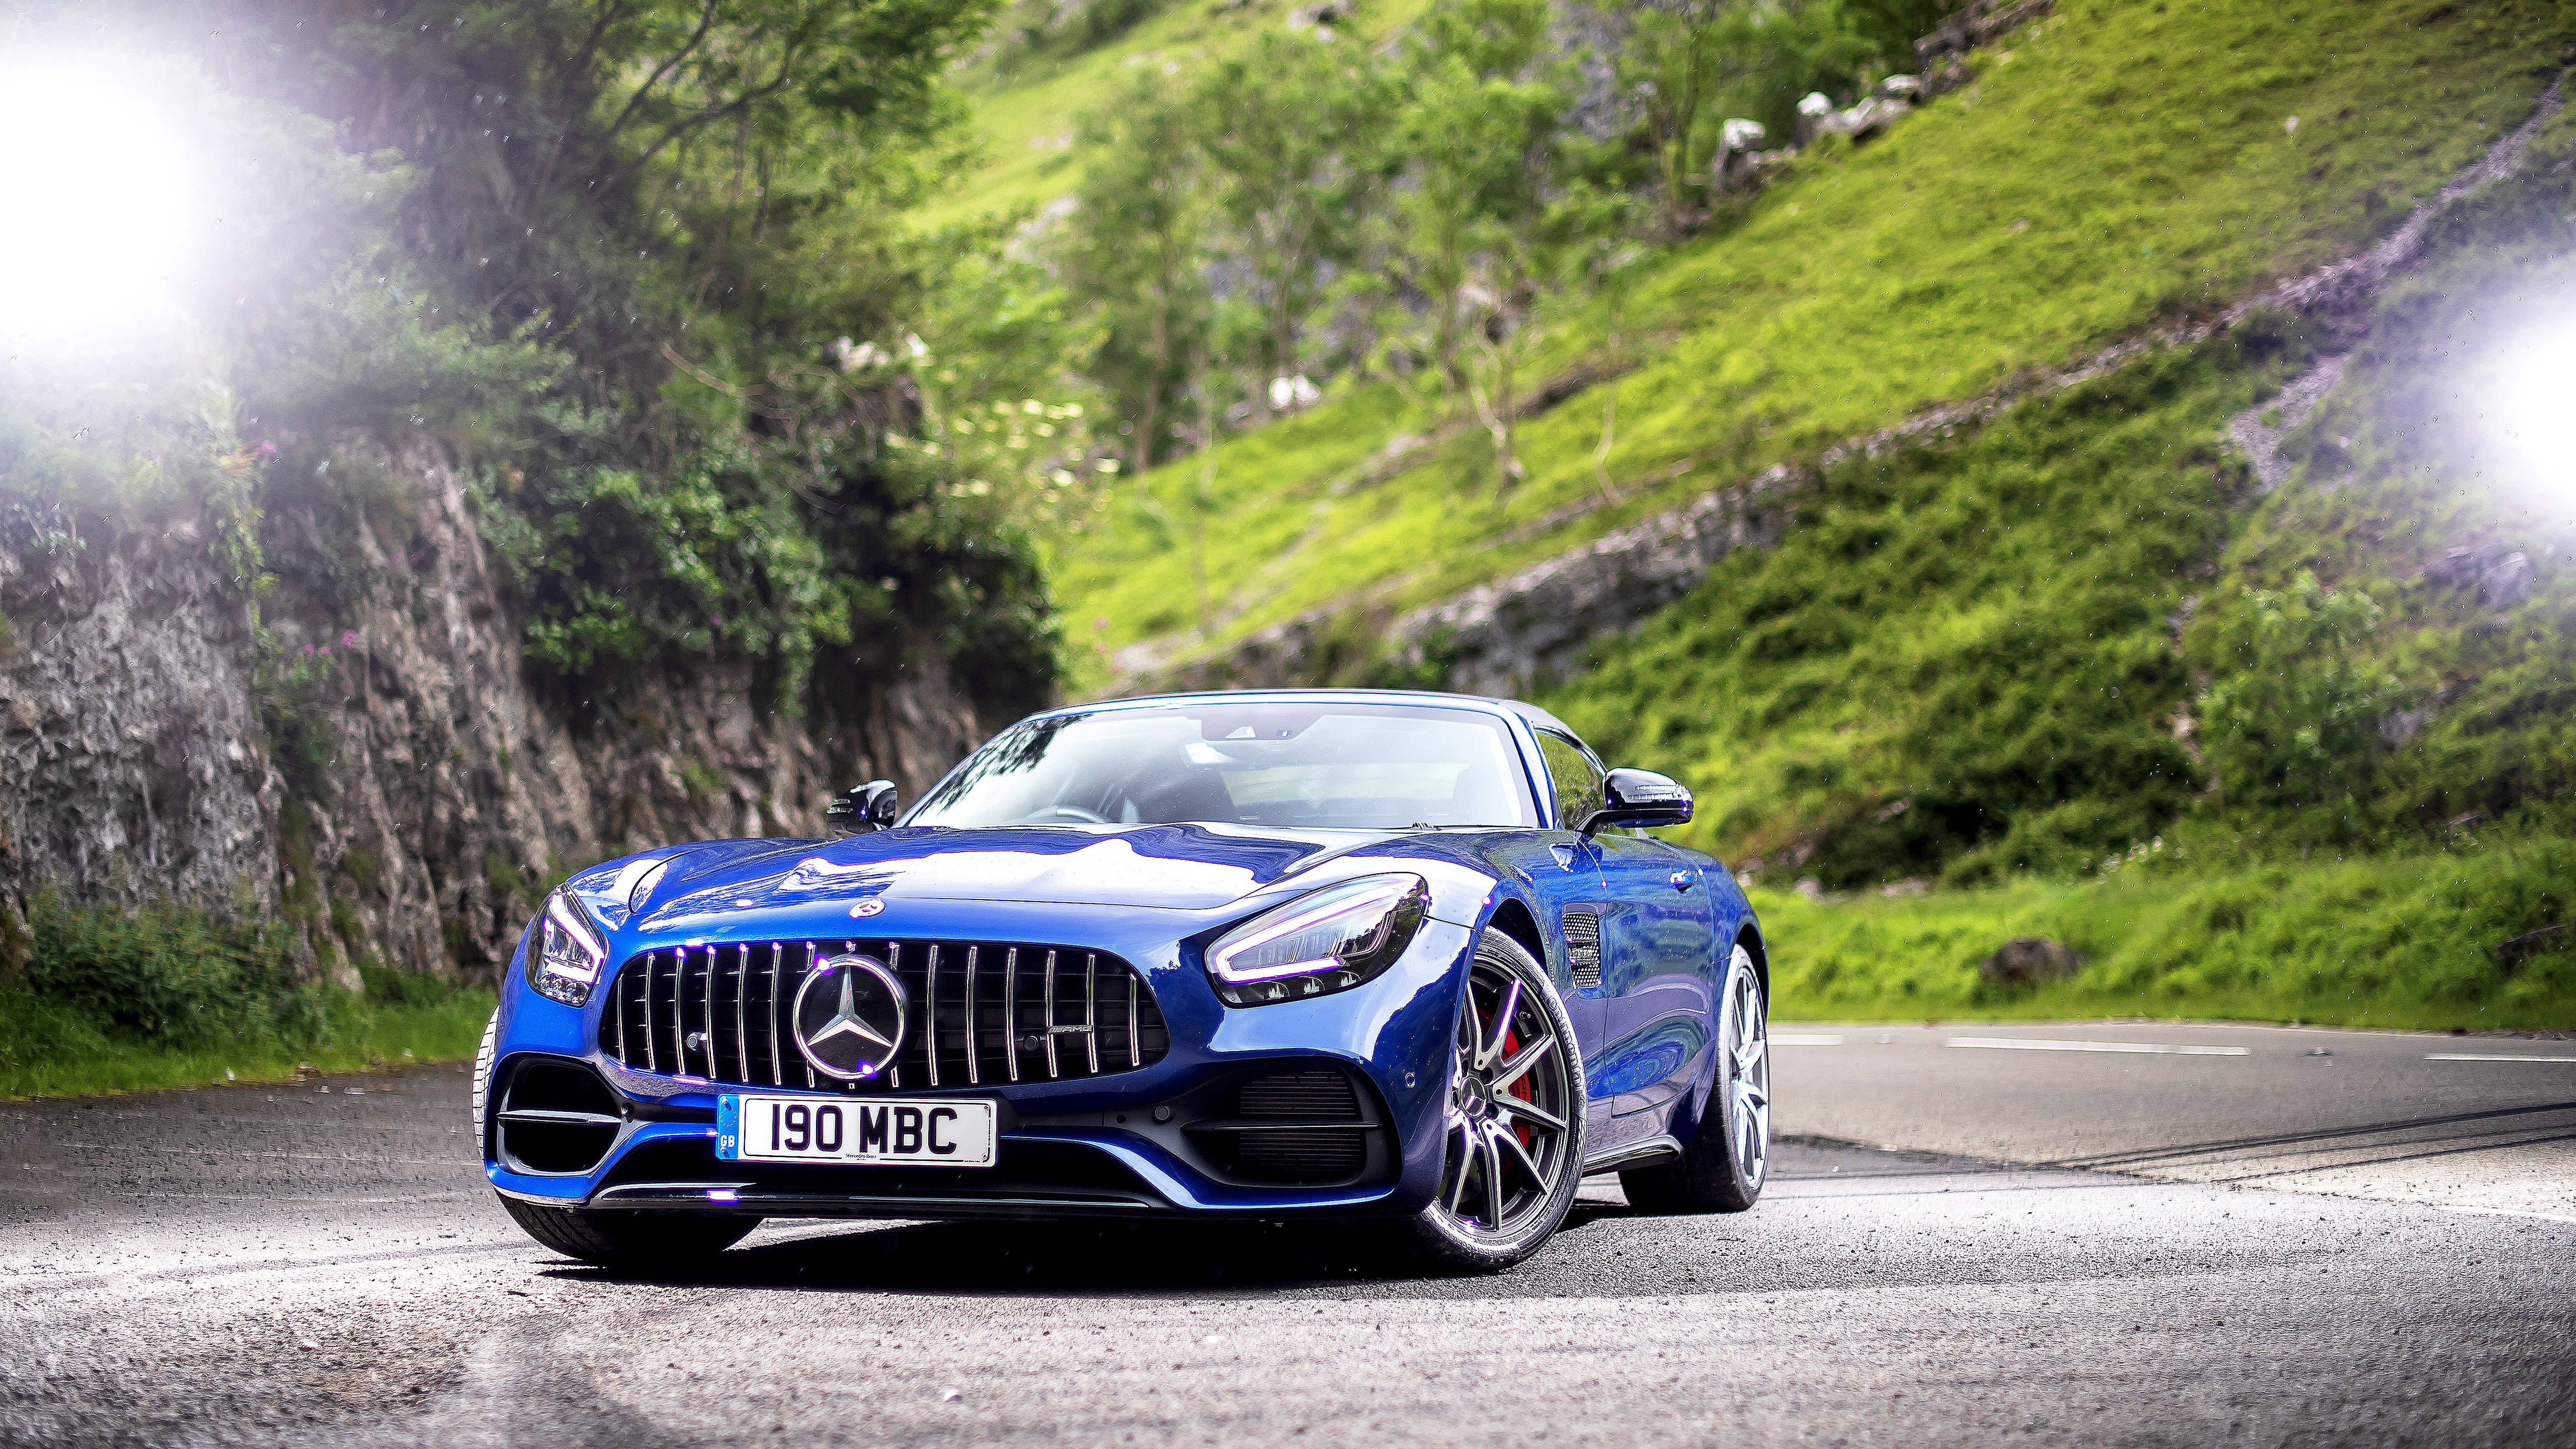
M894 967L904 1042L876 1078L835 1083L791 1036L817 962ZM927 1003L927 1006L925 1006ZM853 1093L1103 1078L1172 1047L1154 993L1108 951L1028 941L724 941L631 957L600 1018L600 1049L659 1075Z

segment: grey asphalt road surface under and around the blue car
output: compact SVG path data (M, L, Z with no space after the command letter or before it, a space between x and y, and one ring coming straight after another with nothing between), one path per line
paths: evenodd
M0 1106L0 1444L2576 1444L2576 1042L1783 1036L1762 1207L1592 1183L1499 1279L788 1225L641 1281L510 1227L453 1067Z

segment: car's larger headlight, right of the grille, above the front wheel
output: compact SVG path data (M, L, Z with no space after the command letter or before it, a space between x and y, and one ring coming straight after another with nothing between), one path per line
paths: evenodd
M1404 954L1432 890L1422 877L1363 877L1301 895L1208 946L1208 975L1229 1006L1350 990Z

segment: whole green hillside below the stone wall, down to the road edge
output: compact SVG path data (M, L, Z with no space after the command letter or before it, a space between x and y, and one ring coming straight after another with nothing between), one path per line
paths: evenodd
M2576 954L2504 944L2563 926L2576 879L2571 358L2561 113L2380 299L2280 490L2218 423L2306 348L2249 327L1837 469L1777 552L1713 570L1551 704L1700 786L1695 838L1767 853L1772 882L1973 887L1765 892L1785 1013L2568 1026ZM2522 554L2527 596L2427 572L2481 547ZM2239 657L2303 575L2375 624L2339 657ZM2352 668L2393 694L2326 789L2244 761L2213 779L2184 740L2213 686ZM1976 962L2022 933L2092 962L1994 995Z

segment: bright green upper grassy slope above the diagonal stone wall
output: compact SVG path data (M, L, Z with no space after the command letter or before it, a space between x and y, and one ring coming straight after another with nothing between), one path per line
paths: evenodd
M2063 5L1978 57L1971 88L1878 142L1819 147L1643 268L1618 351L1602 304L1553 322L1535 371L1633 369L1615 384L1607 498L1592 464L1602 387L1528 425L1530 472L1510 490L1481 431L1388 382L1345 382L1226 441L1208 490L1211 634L1440 598L2347 255L2524 116L2568 34L2548 3ZM1368 482L1363 464L1404 433L1445 441ZM1195 647L1200 469L1144 477L1056 562L1090 668L1077 688L1126 645Z

